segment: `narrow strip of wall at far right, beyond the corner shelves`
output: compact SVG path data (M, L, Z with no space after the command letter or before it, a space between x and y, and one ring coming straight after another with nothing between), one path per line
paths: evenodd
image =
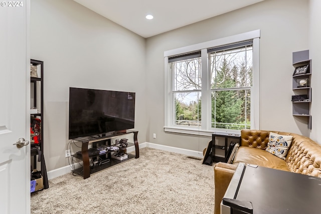
M309 0L309 54L312 59L312 75L311 75L311 87L312 87L312 130L311 138L320 139L321 137L321 99L319 92L321 91L321 1ZM320 141L318 141L320 142Z

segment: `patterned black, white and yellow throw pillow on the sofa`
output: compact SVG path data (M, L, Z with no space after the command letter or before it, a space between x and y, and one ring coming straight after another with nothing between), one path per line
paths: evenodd
M270 132L269 142L267 143L266 151L274 154L275 156L285 159L286 153L292 143L293 136L279 135Z

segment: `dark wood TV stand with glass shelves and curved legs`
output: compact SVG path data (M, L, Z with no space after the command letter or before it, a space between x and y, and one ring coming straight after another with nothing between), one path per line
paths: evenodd
M93 155L90 156L88 153L88 144L92 143L93 144L93 148L97 148L98 145L111 145L111 138L115 138L117 136L121 136L121 135L125 135L125 134L133 134L133 140L134 143L128 143L128 146L135 146L135 155L132 154L127 154L128 158L124 159L124 160L117 160L117 159L113 159L111 158L111 152L108 151L105 154L97 154L97 155ZM83 161L83 167L77 168L72 170L74 173L80 174L84 177L84 179L90 177L90 174L96 173L100 170L106 169L110 166L116 165L118 163L130 160L132 158L139 158L139 147L138 147L138 140L137 140L137 135L138 135L138 131L134 131L134 130L126 130L125 132L112 132L112 133L106 133L106 136L88 136L88 137L79 137L79 138L75 138L73 140L79 141L82 143L81 146L81 153L75 153L72 156L75 158L78 158L80 160ZM94 160L98 160L98 158L101 159L101 162L103 164L99 164L97 166L91 167L90 166L90 162L89 162L89 158L93 158ZM109 159L109 161L107 161Z

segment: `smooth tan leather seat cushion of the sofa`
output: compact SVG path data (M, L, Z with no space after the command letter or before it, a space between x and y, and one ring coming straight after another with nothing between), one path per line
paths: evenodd
M268 168L281 169L289 171L286 162L263 150L247 146L240 146L234 158L234 163L249 163Z

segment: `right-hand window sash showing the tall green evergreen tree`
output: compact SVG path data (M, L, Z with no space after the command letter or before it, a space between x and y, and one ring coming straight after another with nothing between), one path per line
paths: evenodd
M212 128L250 128L252 51L252 41L208 50Z

